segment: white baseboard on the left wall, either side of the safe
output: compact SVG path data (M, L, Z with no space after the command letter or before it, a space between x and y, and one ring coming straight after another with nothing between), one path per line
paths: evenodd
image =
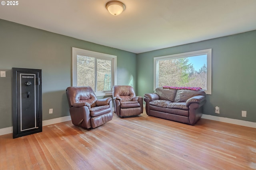
M61 122L64 122L64 121L70 121L70 120L71 120L70 116L58 117L58 118L55 118L55 119L42 121L42 126L48 126L48 125L61 123ZM9 134L9 133L12 133L12 132L13 132L12 126L0 129L0 135L6 135L6 134Z

